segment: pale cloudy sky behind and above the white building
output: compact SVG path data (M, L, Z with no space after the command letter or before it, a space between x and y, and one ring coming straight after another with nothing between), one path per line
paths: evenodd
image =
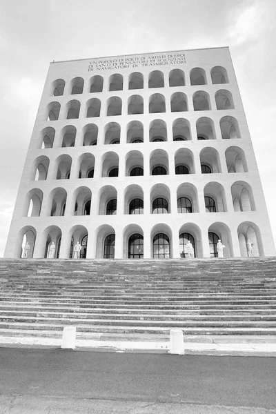
M0 257L50 61L230 46L276 241L275 0L13 0L0 12Z

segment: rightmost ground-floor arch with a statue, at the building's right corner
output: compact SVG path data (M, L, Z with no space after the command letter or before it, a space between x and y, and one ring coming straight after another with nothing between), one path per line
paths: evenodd
M242 257L251 257L247 242L253 243L252 256L264 256L264 246L259 227L252 221L243 221L237 228L239 249Z

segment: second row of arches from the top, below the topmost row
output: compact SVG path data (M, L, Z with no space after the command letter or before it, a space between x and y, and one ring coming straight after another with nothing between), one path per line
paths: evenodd
M235 109L233 96L229 90L221 89L215 92L215 102L217 110ZM85 116L87 118L100 117L101 100L91 98L86 102ZM141 95L132 95L128 98L128 115L144 114L144 98ZM61 104L57 101L48 103L45 121L57 121ZM78 119L81 103L77 99L72 99L66 103L65 119ZM193 94L193 110L211 110L210 95L204 90L197 90ZM188 111L188 99L184 92L175 92L170 97L170 111ZM150 95L148 99L148 113L157 114L166 112L166 98L161 93ZM106 103L107 117L115 117L122 113L122 99L120 97L110 97Z

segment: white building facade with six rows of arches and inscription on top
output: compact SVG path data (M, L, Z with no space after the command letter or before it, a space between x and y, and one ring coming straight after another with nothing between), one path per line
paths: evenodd
M218 239L275 255L228 48L50 63L5 257L216 257Z

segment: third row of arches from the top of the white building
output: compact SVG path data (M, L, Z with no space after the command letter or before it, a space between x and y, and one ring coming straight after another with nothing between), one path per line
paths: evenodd
M239 125L234 117L222 117L219 121L222 139L240 138ZM196 121L197 139L216 139L215 125L212 119L201 117ZM55 141L55 128L43 128L39 135L39 148L52 148ZM75 146L77 128L64 126L60 132L58 147ZM99 128L96 124L88 124L82 128L82 145L95 146L98 143ZM121 126L117 122L109 122L103 128L104 144L120 144ZM150 142L168 141L167 124L162 119L155 119L149 125ZM185 118L177 118L172 122L172 139L174 141L190 141L190 122ZM127 125L126 142L137 144L144 142L144 125L141 121L131 121Z

